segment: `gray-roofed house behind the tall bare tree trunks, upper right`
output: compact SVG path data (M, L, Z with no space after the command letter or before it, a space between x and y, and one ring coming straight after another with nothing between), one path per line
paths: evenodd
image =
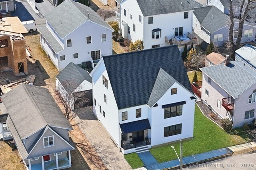
M228 41L229 16L215 6L202 6L195 8L193 16L193 30L203 41L203 46L213 42L216 47L223 46ZM238 36L238 19L234 19L233 38L236 42ZM256 25L244 22L241 43L255 40Z

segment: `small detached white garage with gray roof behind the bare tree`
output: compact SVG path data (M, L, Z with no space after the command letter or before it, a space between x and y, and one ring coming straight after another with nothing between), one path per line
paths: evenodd
M56 90L66 98L66 102L71 102L73 110L92 106L92 77L87 70L72 62L56 76Z

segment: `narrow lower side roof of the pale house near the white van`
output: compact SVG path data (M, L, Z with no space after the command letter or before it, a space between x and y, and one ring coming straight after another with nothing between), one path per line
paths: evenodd
M58 52L64 50L64 48L60 45L58 40L54 37L54 35L52 35L50 30L45 25L38 26L37 29L44 36L44 38L50 44L50 46L55 51L55 53L58 53Z

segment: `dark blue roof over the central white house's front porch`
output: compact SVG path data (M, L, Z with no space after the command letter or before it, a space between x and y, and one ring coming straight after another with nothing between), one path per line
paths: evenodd
M151 129L148 119L120 124L120 128L121 128L122 134Z

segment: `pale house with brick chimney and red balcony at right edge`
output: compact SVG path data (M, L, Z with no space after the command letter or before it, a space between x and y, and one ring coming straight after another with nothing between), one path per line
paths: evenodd
M244 61L226 59L224 64L202 70L202 101L234 127L256 118L256 70Z

